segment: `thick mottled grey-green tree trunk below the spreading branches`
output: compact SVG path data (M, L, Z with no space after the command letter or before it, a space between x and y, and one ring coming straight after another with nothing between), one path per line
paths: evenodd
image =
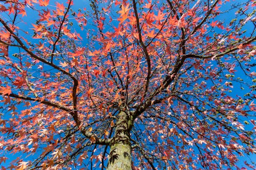
M110 146L110 155L107 170L131 170L131 142L128 130L129 116L120 111L117 117L116 130Z

